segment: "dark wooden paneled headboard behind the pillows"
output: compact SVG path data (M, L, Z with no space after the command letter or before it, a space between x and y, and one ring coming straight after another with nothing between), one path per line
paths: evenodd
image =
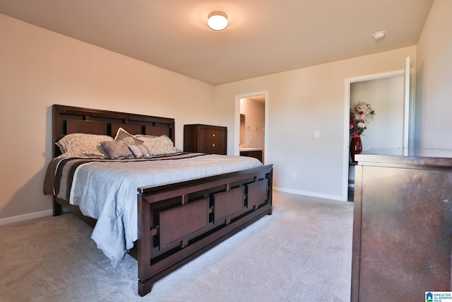
M66 134L106 134L114 137L122 127L130 134L167 135L174 143L174 119L65 105L53 105L53 142ZM54 157L61 154L54 145Z

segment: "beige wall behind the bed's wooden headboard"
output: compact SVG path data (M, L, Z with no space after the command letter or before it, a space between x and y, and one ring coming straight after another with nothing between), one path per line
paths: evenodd
M0 14L0 219L49 214L52 104L212 123L214 87ZM6 217L14 219L4 219Z

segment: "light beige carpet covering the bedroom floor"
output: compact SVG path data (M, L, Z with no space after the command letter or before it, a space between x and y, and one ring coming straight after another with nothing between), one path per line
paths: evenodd
M265 216L141 298L72 214L0 227L0 301L350 301L351 202L274 192Z

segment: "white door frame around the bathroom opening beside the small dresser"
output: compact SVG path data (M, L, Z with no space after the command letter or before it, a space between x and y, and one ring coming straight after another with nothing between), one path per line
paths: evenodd
M257 91L253 93L245 93L240 95L235 95L235 114L234 114L234 155L240 155L239 145L240 145L240 99L241 98L252 98L258 95L265 95L265 107L264 107L264 126L266 131L263 134L263 162L267 162L267 146L268 146L268 91Z

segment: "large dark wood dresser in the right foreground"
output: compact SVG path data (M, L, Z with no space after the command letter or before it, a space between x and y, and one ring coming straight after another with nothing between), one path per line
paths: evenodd
M357 154L351 301L451 291L452 151Z

